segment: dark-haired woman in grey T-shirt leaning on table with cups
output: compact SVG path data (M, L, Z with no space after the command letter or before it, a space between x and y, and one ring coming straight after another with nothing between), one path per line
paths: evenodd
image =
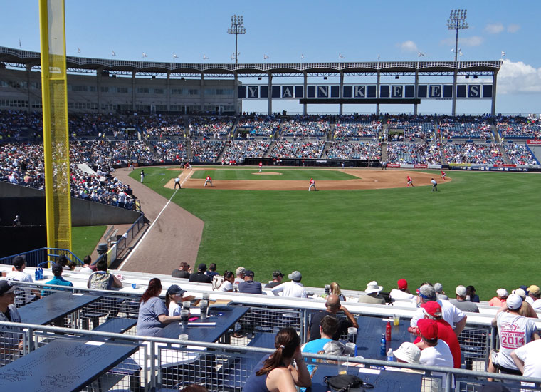
M161 293L162 282L158 278L150 279L147 290L141 296L137 335L155 336L167 324L180 321L180 316L169 316L169 311L159 298Z

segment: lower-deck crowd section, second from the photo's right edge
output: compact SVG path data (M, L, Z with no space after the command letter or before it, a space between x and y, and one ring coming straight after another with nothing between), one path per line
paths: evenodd
M466 143L443 143L443 158L448 164L473 163L473 164L497 164L503 165L502 153L495 143L476 144Z

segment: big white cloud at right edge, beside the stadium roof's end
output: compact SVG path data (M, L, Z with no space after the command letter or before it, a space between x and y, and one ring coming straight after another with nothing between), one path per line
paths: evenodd
M504 60L498 72L498 93L541 93L541 68Z

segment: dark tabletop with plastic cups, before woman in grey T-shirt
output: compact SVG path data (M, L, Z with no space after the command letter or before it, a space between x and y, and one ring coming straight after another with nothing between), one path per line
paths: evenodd
M166 326L157 334L161 338L179 339L180 334L188 334L188 340L205 341L213 343L220 339L233 324L250 309L248 306L211 306L209 317L206 320L191 321L190 325L183 327L179 322ZM213 326L204 326L204 323L216 323ZM197 325L201 324L201 325Z

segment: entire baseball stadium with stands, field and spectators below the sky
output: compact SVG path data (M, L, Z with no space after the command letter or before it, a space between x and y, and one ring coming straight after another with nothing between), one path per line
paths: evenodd
M40 4L41 50L0 46L2 388L292 391L279 351L290 388L540 390L541 119L465 10L454 61L180 63L66 56ZM284 354L317 328L342 351Z

